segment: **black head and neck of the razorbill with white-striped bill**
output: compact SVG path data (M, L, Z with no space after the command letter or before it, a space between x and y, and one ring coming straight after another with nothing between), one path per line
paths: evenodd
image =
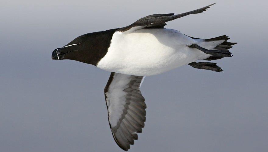
M115 31L110 29L78 36L64 47L55 49L52 60L69 59L96 66L107 53Z

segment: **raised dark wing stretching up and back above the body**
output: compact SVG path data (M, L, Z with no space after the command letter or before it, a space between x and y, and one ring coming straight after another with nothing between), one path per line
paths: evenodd
M214 4L211 4L211 5L214 5ZM210 8L211 5L203 7L201 9L196 9L196 10L193 10L190 12L177 14L177 15L174 15L174 13L149 15L149 16L146 16L146 17L143 17L143 18L137 20L136 22L134 22L133 24L131 24L129 26L120 28L117 31L133 32L133 31L136 31L138 29L143 29L143 28L164 28L164 26L167 25L165 22L172 21L174 19L178 19L180 17L187 16L190 14L202 13L202 12L206 11L206 9Z

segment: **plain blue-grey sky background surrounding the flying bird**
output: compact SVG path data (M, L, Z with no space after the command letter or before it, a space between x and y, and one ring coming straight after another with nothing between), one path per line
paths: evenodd
M238 42L217 73L183 66L146 77L147 115L130 151L265 152L268 149L267 1L10 1L0 5L0 151L122 151L108 125L110 72L51 52L79 35L155 13L208 11L166 28Z

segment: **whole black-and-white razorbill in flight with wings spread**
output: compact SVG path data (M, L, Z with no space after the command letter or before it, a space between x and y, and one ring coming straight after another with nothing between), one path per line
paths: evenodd
M146 75L185 64L223 71L216 63L195 61L231 57L228 49L236 43L227 42L228 36L199 39L164 28L165 22L201 13L211 5L178 15L153 14L126 27L84 34L52 52L53 60L76 60L111 72L104 95L112 135L123 150L134 144L144 127L146 104L140 86Z

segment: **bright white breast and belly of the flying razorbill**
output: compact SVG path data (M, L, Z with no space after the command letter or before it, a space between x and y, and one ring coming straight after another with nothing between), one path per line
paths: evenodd
M128 75L155 75L194 62L204 53L188 47L198 43L173 29L115 32L97 67Z

